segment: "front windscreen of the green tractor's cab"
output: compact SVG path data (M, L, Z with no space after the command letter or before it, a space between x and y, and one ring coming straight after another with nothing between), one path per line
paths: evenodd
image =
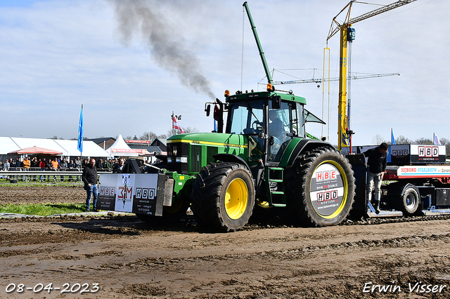
M229 107L228 133L257 135L262 128L263 101L235 102Z

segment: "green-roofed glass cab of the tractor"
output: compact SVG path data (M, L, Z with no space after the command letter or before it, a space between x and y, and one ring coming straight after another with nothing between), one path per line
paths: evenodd
M292 93L251 92L226 97L225 133L248 136L250 160L278 164L290 140L304 138L304 98Z

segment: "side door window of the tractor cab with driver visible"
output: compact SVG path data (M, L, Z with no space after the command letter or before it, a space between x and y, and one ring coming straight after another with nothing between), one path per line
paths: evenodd
M280 161L292 138L288 136L293 133L292 114L293 109L287 102L281 102L280 109L269 109L269 161Z

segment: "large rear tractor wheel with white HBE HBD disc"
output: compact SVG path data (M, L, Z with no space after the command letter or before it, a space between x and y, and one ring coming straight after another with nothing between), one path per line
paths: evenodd
M334 149L304 152L287 171L286 185L288 213L297 225L338 225L352 209L352 166Z

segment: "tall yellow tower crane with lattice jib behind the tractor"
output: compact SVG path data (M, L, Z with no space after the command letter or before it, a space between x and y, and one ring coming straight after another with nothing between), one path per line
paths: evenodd
M339 106L338 106L338 146L339 150L342 146L349 146L352 131L349 129L349 121L347 119L347 44L354 40L355 30L351 27L354 23L366 20L373 17L374 15L379 15L380 13L385 13L394 8L404 6L416 0L399 0L392 4L387 4L363 15L359 15L356 18L350 18L350 11L352 10L352 5L358 3L358 1L350 1L342 11L333 18L331 22L330 31L328 32L328 37L326 39L326 44L328 49L328 40L334 36L336 33L340 32L340 62L339 62ZM347 9L347 14L345 16L344 22L340 24L336 18Z

